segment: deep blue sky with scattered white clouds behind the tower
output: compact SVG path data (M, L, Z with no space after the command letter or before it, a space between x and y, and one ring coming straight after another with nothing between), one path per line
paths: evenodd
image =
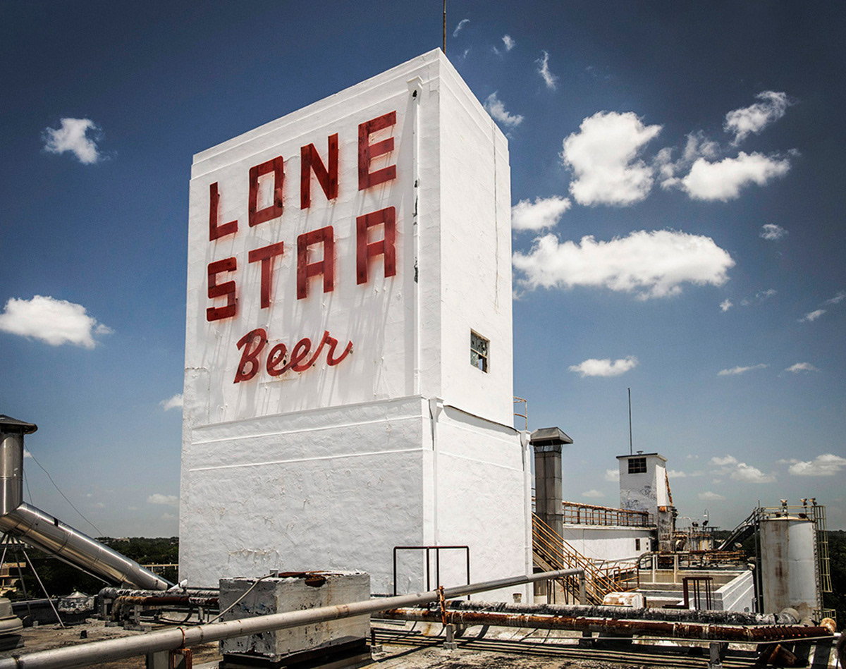
M31 458L25 496L174 535L193 154L440 46L442 5L0 8L0 413L87 520ZM565 497L617 505L630 387L682 516L816 496L846 527L844 13L450 3L509 138L514 393L574 438Z

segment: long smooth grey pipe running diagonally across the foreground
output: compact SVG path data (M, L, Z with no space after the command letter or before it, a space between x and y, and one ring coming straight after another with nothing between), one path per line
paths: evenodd
M535 581L560 579L578 573L582 573L582 570L560 569L554 572L533 573L526 576L514 576L509 579L460 585L456 588L444 589L443 596L452 599L487 590L534 583ZM0 659L0 669L60 669L60 667L87 666L95 662L109 662L134 655L147 655L163 650L187 648L197 644L208 644L222 639L232 639L233 637L248 636L276 629L296 628L315 622L366 616L376 613L376 611L385 611L399 606L414 606L415 604L436 601L440 597L441 592L439 590L431 590L412 595L381 597L376 600L338 604L337 606L321 606L305 611L286 611L285 613L273 613L269 616L213 622L191 628L168 629L135 637L96 641L91 644L66 646L52 650L38 650L35 653Z

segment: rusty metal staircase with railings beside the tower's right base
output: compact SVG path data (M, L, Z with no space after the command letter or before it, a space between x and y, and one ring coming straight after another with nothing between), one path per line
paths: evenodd
M585 557L536 513L532 513L532 552L536 567L545 571L554 569L584 569L585 595L587 601L582 604L602 604L602 599L609 592L632 590L637 587L637 570L614 565L600 567L590 558ZM578 597L579 585L576 579L559 579L565 592Z

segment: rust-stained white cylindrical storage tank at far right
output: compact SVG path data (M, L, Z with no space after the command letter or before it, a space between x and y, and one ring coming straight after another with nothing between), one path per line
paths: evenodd
M761 582L764 613L806 605L819 609L814 542L816 526L807 518L761 521Z

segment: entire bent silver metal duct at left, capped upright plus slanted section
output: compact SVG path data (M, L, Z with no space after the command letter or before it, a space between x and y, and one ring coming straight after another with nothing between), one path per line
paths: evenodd
M109 583L164 590L173 585L135 560L24 502L24 435L33 423L0 414L0 531Z

